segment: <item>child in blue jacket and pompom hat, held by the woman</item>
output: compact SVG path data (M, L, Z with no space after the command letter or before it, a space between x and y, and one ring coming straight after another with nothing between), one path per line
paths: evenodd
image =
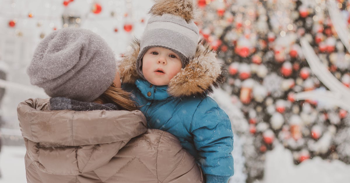
M212 100L222 80L215 53L198 43L192 0L158 0L141 41L120 63L123 88L135 95L148 127L179 138L200 163L206 181L233 175L233 134L225 112Z

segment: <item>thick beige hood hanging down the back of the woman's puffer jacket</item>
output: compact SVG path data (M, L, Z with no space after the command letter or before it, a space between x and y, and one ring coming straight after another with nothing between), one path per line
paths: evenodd
M28 140L28 156L49 174L78 175L97 169L131 138L147 131L140 111L52 111L48 104L48 99L22 102L18 119L22 136Z

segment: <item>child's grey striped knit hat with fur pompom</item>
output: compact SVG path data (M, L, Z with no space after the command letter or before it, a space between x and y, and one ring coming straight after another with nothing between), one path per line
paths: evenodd
M195 21L196 4L193 0L156 0L149 12L145 31L140 40L136 71L142 73L142 57L149 48L163 47L180 56L182 68L196 53L199 31Z

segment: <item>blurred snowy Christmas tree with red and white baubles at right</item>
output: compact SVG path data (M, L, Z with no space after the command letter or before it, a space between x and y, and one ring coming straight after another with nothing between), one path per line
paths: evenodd
M265 152L276 143L292 151L295 164L314 156L349 164L350 108L335 95L350 92L350 1L198 0L198 6L203 41L228 70L223 88L243 104L249 123L249 131L233 129L245 136L247 182L263 177Z

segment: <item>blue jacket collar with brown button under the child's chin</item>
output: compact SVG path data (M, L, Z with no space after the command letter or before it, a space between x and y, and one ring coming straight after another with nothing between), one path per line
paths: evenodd
M143 79L137 79L135 85L140 90L141 94L148 100L164 100L170 97L167 92L167 85L155 86Z

